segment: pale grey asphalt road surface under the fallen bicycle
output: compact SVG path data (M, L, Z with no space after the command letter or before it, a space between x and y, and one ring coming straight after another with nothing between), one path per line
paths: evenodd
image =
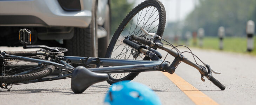
M4 51L17 48L0 47L0 49ZM181 50L184 51L186 49ZM197 48L192 48L192 51L194 54L198 55L204 63L211 65L212 69L222 72L221 75L213 74L213 76L223 83L226 89L221 91L209 80L202 82L200 73L184 63L181 63L175 71L178 76L220 105L256 104L255 56L214 50L201 50ZM165 55L166 52L162 54ZM190 60L193 60L191 54L184 55ZM167 61L172 60L173 57L167 57ZM0 104L101 105L103 104L105 93L107 93L110 86L107 82L101 82L90 86L82 94L74 94L70 89L70 81L69 78L51 82L15 85L12 87L11 91L0 89ZM181 91L181 89L162 72L142 72L133 81L149 86L160 97L163 105L195 104L184 91Z

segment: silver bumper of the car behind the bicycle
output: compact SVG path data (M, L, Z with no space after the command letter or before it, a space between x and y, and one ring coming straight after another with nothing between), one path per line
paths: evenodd
M92 0L80 3L81 11L69 12L58 0L0 0L0 26L88 27Z

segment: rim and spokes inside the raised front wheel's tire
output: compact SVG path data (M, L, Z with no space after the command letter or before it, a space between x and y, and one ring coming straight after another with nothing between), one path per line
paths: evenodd
M154 6L148 6L141 8L141 10L129 19L127 24L123 27L120 32L120 35L116 38L115 45L110 52L109 58L116 58L116 59L136 59L142 60L144 58L143 54L139 54L139 52L133 50L122 41L126 36L140 36L144 38L149 38L147 35L143 35L144 33L140 30L142 26L146 29L149 33L157 33L158 26L159 26L159 11ZM117 30L118 31L118 30ZM112 73L109 74L109 78L111 80L119 81L126 78L129 73Z

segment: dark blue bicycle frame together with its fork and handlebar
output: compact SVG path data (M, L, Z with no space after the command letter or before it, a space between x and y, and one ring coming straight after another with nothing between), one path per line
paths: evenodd
M128 37L127 37L128 38ZM203 77L207 77L211 82L213 82L216 86L218 86L221 90L225 89L225 86L222 85L217 79L215 79L211 75L211 68L208 64L204 65L197 65L191 61L189 61L186 57L182 54L171 50L170 48L164 47L163 44L158 40L155 39L155 42L146 40L141 37L131 36L131 38L138 42L143 42L150 47L155 47L167 51L170 55L174 56L174 61L170 64L168 62L164 62L161 60L157 53L158 51L150 51L151 48L148 48L144 45L136 44L130 40L124 39L123 43L127 44L128 46L132 47L134 50L143 53L147 57L151 59L151 61L141 61L141 60L128 60L128 59L113 59L113 58L96 58L96 57L75 57L75 56L60 56L60 55L47 55L50 57L50 61L45 61L42 59L34 59L29 57L22 57L22 56L15 56L15 55L8 55L5 52L2 52L2 57L8 57L9 59L15 58L23 61L31 61L37 62L39 66L42 64L53 65L59 69L59 75L55 77L44 77L41 79L30 80L26 82L21 82L20 84L24 83L34 83L34 82L43 82L43 81L51 81L51 80L58 80L58 79L66 79L72 76L72 72L75 69L73 66L69 65L68 63L77 63L77 64L85 64L86 67L89 67L90 64L96 65L96 68L88 68L88 70L92 72L98 73L121 73L121 72L143 72L143 71L165 71L173 74L175 72L175 68L178 66L180 62L184 62L190 66L193 66L201 73L201 80L204 81ZM160 38L160 37L158 37ZM145 56L145 57L146 57ZM160 56L161 57L161 56ZM66 62L65 62L66 61ZM108 66L99 68L101 66ZM63 75L63 70L70 71L70 73ZM87 71L88 71L87 70ZM215 73L215 72L214 72ZM81 76L81 75L80 75ZM105 74L105 76L107 76ZM109 76L108 76L109 77ZM7 87L6 87L7 88Z

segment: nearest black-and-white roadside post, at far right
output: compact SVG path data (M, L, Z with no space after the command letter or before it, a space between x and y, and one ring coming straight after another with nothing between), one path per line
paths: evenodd
M247 51L251 52L254 45L254 21L249 20L246 25L246 34L247 34Z

